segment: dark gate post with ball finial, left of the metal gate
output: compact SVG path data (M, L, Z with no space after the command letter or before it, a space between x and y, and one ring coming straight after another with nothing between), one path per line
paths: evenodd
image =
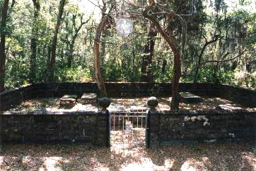
M97 113L95 133L95 142L97 145L110 147L110 113L108 106L110 106L110 98L103 97L98 99L98 105L102 108Z

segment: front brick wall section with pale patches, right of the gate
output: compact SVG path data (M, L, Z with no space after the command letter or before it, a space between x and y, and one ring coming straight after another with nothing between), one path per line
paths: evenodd
M148 146L197 141L256 140L256 113L148 113Z

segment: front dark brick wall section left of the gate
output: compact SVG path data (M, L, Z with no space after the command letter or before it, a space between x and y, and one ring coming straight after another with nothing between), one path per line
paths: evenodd
M7 112L0 117L3 143L91 143L110 146L108 112Z

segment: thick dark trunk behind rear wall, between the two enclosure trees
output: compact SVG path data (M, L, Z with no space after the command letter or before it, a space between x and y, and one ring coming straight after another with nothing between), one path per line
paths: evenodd
M154 54L154 37L157 32L153 30L153 23L148 24L148 39L146 40L144 55L142 57L141 81L152 82L151 64Z

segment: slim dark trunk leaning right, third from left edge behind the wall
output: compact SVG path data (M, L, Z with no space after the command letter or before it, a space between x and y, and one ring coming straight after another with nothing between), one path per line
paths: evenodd
M55 68L55 59L56 59L56 47L57 47L57 39L58 39L58 30L60 28L60 23L62 19L63 9L65 6L66 0L60 0L60 4L58 7L58 17L57 23L55 25L54 38L52 39L52 53L49 63L49 82L54 81L54 68Z

